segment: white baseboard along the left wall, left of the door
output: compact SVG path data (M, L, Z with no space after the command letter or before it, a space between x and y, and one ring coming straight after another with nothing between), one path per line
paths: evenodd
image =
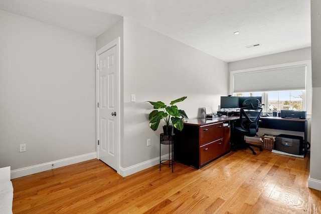
M11 171L11 179L17 177L23 177L26 175L47 171L49 169L58 168L62 166L67 166L74 163L79 163L86 160L91 160L97 158L97 152L91 152L88 154L82 154L74 157L68 157L65 159L55 160L47 163L42 163L38 165L28 166L25 168L15 169ZM52 165L54 164L54 166Z

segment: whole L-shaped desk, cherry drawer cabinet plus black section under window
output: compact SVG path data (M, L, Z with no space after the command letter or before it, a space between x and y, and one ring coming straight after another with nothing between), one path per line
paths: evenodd
M174 160L201 168L230 152L231 125L239 116L197 118L184 123L182 131L174 129ZM261 117L259 127L304 132L307 145L307 119Z

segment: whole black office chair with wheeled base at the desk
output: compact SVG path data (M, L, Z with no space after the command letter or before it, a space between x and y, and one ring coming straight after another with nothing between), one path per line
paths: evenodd
M247 143L245 136L254 137L259 129L259 120L262 115L261 103L258 99L247 99L240 108L240 119L232 123L231 144L233 150L240 147L249 148L256 154L251 146L258 147L262 151L262 146Z

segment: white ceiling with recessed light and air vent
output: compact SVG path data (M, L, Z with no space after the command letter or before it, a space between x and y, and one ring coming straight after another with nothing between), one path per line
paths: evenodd
M311 46L310 0L0 0L0 9L93 37L126 17L226 62Z

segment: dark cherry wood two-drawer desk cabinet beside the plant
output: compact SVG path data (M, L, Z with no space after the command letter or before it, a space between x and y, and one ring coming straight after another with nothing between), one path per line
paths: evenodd
M186 165L199 169L230 152L231 126L223 120L191 119L174 133L174 159Z

